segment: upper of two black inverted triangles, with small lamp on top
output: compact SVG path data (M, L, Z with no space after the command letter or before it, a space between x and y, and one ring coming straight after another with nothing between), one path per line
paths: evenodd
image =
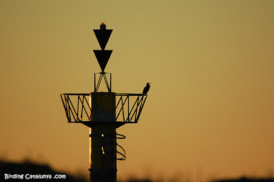
M113 29L106 29L104 23L100 25L100 29L93 29L102 50L105 50L105 46L108 43L112 30Z

